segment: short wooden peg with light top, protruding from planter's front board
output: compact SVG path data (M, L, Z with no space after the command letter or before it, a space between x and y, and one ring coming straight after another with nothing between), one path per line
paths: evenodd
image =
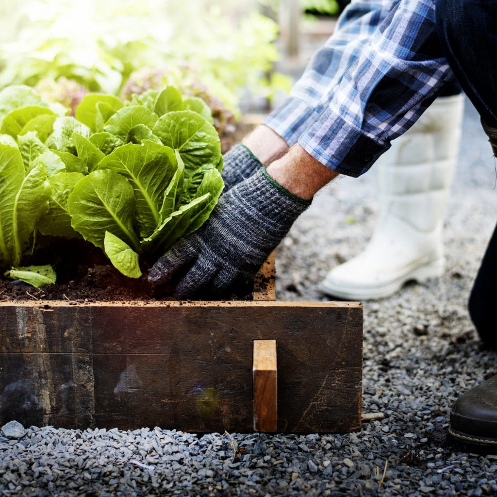
M277 368L276 340L253 341L253 429L276 431Z

